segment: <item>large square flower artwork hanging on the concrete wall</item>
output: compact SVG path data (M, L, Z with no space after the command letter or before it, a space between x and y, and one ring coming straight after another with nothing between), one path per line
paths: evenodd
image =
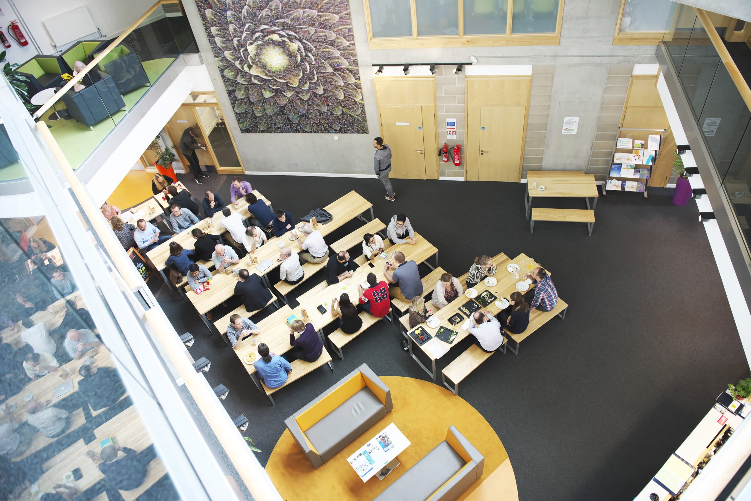
M240 130L367 133L348 0L197 0Z

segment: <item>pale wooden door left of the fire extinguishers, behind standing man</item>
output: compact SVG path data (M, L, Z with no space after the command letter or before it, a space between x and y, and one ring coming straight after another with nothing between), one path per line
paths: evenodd
M434 77L375 77L381 137L391 147L393 178L437 179Z

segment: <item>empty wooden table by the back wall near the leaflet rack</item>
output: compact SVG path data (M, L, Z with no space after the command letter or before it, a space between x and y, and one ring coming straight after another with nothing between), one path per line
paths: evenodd
M537 187L535 187L537 181ZM545 187L540 191L541 186ZM529 170L526 172L526 190L524 190L524 215L529 219L534 198L584 198L587 208L595 210L597 205L597 183L593 174L581 172L567 172L565 170Z

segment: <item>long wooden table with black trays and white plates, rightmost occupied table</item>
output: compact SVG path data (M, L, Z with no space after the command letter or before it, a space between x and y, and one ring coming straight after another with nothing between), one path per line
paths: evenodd
M494 285L493 287L488 287L484 281L481 281L479 284L477 284L477 286L474 287L475 290L478 291L478 296L484 291L489 290L491 293L493 293L493 296L496 296L496 298L498 298L498 300L502 298L508 299L509 296L511 296L511 293L517 290L516 283L524 280L524 274L529 272L529 269L520 269L519 278L513 278L512 274L508 272L506 268L511 263L519 265L521 260L529 260L529 257L527 257L526 254L519 254L517 257L511 260L505 254L501 253L495 259L493 259L493 263L496 263L496 265L498 266L498 272L496 272L496 275L493 275L493 278L495 278L497 281L496 285ZM410 336L409 334L407 335L407 341L409 342L409 355L412 356L412 359L415 359L415 361L418 362L418 365L420 365L420 367L423 368L425 372L427 372L427 374L430 374L430 377L433 377L433 380L436 380L436 377L438 377L438 373L436 371L436 360L440 359L442 356L448 353L448 350L451 350L451 348L457 346L457 344L459 344L460 341L462 341L464 338L471 335L468 330L462 329L462 325L467 320L467 316L463 314L463 312L459 311L459 307L469 300L470 299L466 296L466 294L462 294L457 299L454 299L454 301L448 303L448 305L446 305L444 308L436 311L435 314L433 314L433 317L436 317L441 321L441 323L439 323L439 326L432 328L428 327L427 324L421 324L421 327L425 329L431 336L433 336L430 341L427 341L427 343L423 344L422 346L417 344L417 342L412 339L412 336ZM500 313L500 309L495 305L494 302L481 309L490 311L493 315ZM448 319L454 317L454 315L457 313L461 314L464 318L460 323L457 323L456 326L452 326ZM439 340L439 338L436 338L436 332L438 332L438 329L440 329L441 326L457 332L457 337L454 338L453 343L448 344L444 341ZM412 329L409 329L409 331L411 332ZM430 369L427 368L427 366L424 365L421 360L418 359L418 357L415 355L415 346L419 347L421 352L423 352L430 360L430 364L432 366Z

